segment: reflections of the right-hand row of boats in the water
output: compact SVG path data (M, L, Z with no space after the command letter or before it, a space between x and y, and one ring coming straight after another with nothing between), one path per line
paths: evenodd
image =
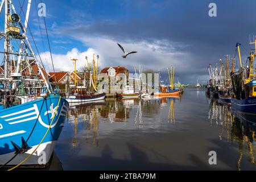
M215 123L220 126L220 140L236 143L238 146L237 169L241 170L242 158L247 160L247 156L250 163L256 164L256 115L232 110L230 104L220 103L214 98L208 98L208 102L209 122L210 125Z

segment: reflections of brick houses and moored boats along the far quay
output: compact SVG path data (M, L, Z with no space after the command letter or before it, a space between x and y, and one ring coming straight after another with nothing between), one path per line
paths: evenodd
M77 131L85 130L86 143L90 142L94 146L99 144L99 125L100 122L126 123L132 121L135 128L143 128L143 120L152 118L152 115L160 115L160 110L168 108L167 123L175 123L175 102L181 101L180 97L162 98L107 98L104 102L90 102L81 105L73 105L69 109L69 124L73 129L73 137L70 142L73 150L79 147ZM131 114L131 112L133 112ZM155 124L155 123L154 123ZM83 126L81 126L83 125ZM79 127L81 129L79 129Z

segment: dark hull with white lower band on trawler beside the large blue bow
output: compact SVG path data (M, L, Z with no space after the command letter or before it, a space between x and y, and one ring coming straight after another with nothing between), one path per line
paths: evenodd
M93 95L67 95L66 100L69 103L75 103L75 102L92 102L92 101L98 101L98 100L104 100L106 97L105 93L100 94L93 94Z

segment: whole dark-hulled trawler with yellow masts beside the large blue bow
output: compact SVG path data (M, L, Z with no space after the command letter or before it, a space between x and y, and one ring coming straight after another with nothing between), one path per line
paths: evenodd
M92 101L99 101L104 100L106 97L106 94L104 92L98 92L97 90L97 75L98 75L98 56L97 56L97 66L95 65L94 55L93 55L93 75L90 73L90 65L88 61L88 57L85 57L88 63L88 72L89 72L89 87L85 86L85 80L84 85L78 85L77 83L77 71L76 71L76 61L77 59L72 59L75 71L73 80L74 85L69 85L68 93L66 94L66 100L71 103L77 103L77 102L92 102Z

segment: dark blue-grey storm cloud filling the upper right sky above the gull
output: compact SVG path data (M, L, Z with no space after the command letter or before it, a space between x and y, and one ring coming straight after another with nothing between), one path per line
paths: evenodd
M217 17L208 16L211 2L217 5ZM164 52L189 53L189 57L182 59L191 68L177 70L176 73L184 82L195 82L200 76L206 77L209 63L218 63L220 57L227 54L233 56L236 42L247 46L249 34L254 35L256 30L255 5L256 1L238 0L140 1L139 5L137 1L127 1L123 3L123 9L133 15L121 15L111 20L97 19L89 25L80 24L62 31L126 42L166 40L167 43L158 43ZM150 57L141 63L148 60Z

